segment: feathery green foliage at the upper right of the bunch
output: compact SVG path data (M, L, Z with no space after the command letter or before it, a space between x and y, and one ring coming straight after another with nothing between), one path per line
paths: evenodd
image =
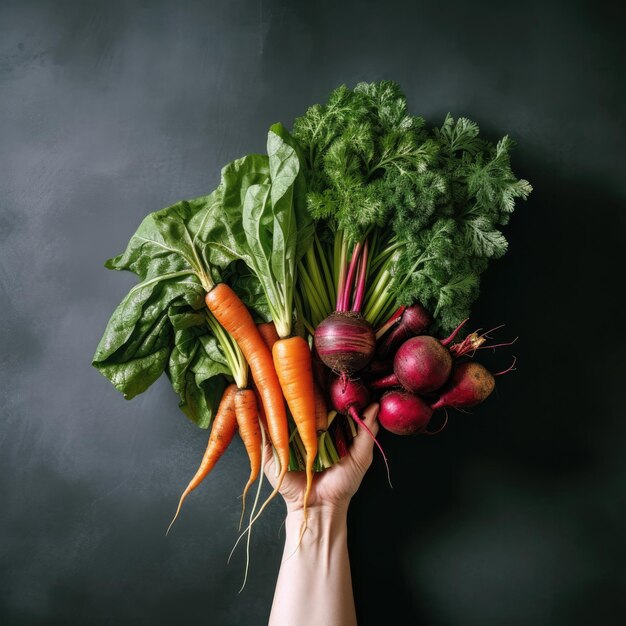
M376 326L415 301L435 328L465 319L488 261L507 250L501 227L532 190L511 170L513 140L493 144L463 117L427 124L391 81L335 89L295 120L293 134L320 237L353 244L374 233L366 319Z

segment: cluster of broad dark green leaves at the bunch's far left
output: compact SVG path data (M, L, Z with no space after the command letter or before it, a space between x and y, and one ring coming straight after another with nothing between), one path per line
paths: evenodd
M208 334L207 276L215 280L216 275L202 257L197 234L219 203L218 189L151 213L124 253L107 261L106 267L132 271L142 282L114 311L93 357L93 365L127 399L166 371L181 408L203 427L211 421L228 373L223 357L213 362L199 339Z

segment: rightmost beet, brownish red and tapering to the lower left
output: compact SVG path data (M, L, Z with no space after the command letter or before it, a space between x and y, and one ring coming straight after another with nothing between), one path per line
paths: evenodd
M494 375L476 361L459 363L433 410L443 407L461 409L476 406L486 400L496 386Z

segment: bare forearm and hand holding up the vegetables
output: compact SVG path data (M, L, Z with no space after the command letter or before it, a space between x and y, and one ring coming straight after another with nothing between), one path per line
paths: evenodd
M378 432L377 414L377 404L363 414L374 435ZM265 472L273 481L275 465L272 455L267 456ZM301 540L305 477L303 472L289 472L283 481L280 492L287 506L286 538L269 626L356 626L347 513L372 456L373 440L359 428L349 454L315 476Z

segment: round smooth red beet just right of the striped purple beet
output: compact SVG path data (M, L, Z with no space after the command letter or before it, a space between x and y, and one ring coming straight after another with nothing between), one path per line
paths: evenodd
M452 355L430 335L407 339L393 359L393 374L371 383L373 389L401 386L414 393L439 389L452 372Z

